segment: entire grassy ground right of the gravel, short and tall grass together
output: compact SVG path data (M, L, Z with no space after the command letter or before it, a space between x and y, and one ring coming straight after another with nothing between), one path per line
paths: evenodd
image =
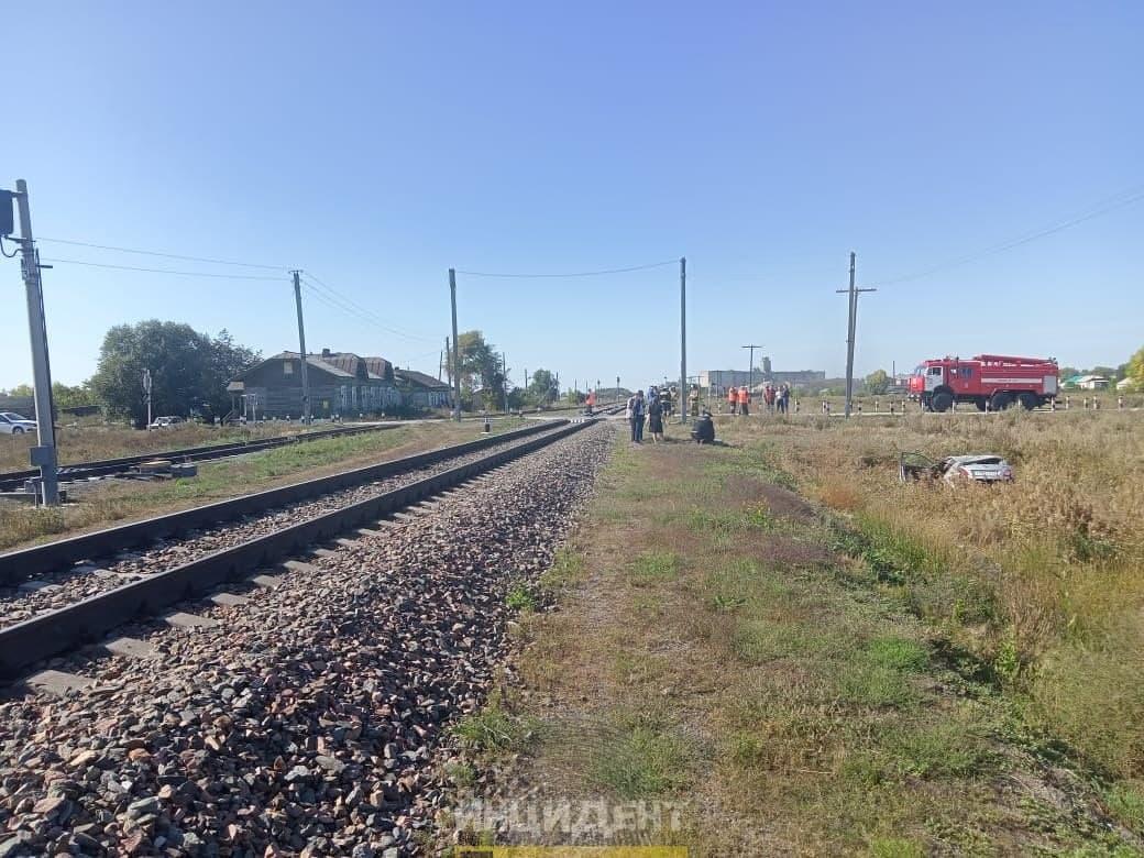
M523 753L538 801L680 802L642 840L697 856L1141 853L1144 419L1047 416L621 443L455 780Z

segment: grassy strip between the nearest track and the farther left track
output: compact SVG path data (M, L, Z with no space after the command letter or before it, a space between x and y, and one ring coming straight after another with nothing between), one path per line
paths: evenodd
M501 432L524 422L510 418L494 421L492 428ZM78 502L53 510L0 502L0 550L472 440L480 437L479 430L476 423L407 423L379 432L323 438L238 459L201 462L198 476L191 479L84 484L71 490ZM164 438L168 437L173 436L164 432Z

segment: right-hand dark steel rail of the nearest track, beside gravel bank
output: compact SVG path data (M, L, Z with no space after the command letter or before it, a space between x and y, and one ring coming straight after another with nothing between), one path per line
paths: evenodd
M0 629L0 678L16 678L31 665L78 645L94 643L125 622L153 615L177 602L205 596L221 583L247 578L254 570L297 555L307 546L328 541L345 530L376 522L382 516L439 494L477 474L572 435L590 422L595 421L563 423L555 431L508 450Z

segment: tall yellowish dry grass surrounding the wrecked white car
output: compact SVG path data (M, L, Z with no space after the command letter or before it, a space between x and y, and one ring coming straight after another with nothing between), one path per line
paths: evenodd
M883 588L995 669L1044 729L1144 780L1144 413L741 421L847 514ZM1004 486L897 482L899 451L996 452Z

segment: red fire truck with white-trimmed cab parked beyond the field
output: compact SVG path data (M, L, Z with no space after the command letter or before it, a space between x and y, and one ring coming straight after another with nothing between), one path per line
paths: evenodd
M1016 404L1032 411L1057 395L1057 362L977 355L927 360L909 376L909 398L927 411L948 411L954 403L974 403L978 411L1004 411Z

